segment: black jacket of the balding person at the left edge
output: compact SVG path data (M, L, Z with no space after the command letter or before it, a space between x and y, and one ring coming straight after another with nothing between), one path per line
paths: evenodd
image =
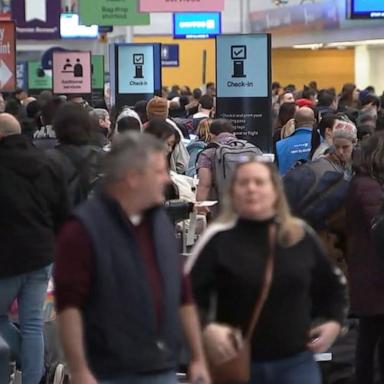
M49 265L68 214L63 178L22 135L0 140L0 278Z

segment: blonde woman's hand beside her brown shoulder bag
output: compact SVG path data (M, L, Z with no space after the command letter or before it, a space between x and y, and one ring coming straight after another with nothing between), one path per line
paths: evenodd
M215 365L225 363L237 355L241 336L221 324L209 324L204 330L204 342L208 359Z

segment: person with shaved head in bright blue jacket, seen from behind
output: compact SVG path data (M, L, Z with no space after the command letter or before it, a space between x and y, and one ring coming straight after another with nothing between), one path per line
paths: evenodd
M295 114L295 132L276 144L280 174L284 175L299 160L307 160L311 151L315 114L311 108L300 108Z

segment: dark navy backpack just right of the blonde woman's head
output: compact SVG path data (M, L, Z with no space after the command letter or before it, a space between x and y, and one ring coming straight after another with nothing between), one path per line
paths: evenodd
M326 228L326 219L344 203L349 182L328 159L305 163L283 177L293 213L315 229Z

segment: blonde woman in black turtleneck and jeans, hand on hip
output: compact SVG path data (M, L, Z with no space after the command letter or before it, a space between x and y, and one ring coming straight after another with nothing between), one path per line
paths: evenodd
M205 338L211 340L216 361L236 354L229 327L243 334L248 330L262 287L272 225L274 273L252 337L251 383L318 384L313 353L326 351L340 332L347 313L346 280L312 230L290 215L271 164L250 159L238 166L221 218L187 264ZM209 315L212 297L214 318Z

